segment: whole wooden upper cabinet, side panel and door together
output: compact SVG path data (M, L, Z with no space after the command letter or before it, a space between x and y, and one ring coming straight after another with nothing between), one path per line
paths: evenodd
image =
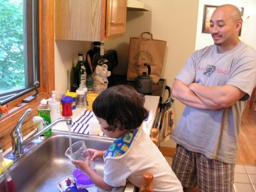
M55 0L55 39L106 41L124 35L127 0Z

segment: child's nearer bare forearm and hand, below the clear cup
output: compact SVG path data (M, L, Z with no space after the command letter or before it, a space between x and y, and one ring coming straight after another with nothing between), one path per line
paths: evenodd
M95 183L96 186L98 186L100 189L106 190L106 191L111 191L112 190L112 186L109 186L108 184L106 184L103 180L103 177L100 176L98 173L96 173L91 165L90 165L90 157L88 157L86 159L86 161L75 161L72 160L72 163L79 168L79 170L82 170L83 172L85 172L90 179Z

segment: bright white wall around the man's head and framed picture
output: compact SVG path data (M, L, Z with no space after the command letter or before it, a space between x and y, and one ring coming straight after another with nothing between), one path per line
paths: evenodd
M243 7L244 17L250 15L250 19L248 19L248 21L244 19L246 22L243 22L240 40L248 45L251 45L256 50L256 0L199 0L195 49L202 49L205 46L213 43L212 37L209 33L202 33L204 4L217 6L221 4L234 4L237 7Z

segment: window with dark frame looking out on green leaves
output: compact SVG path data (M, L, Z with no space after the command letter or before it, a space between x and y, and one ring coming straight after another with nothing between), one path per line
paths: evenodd
M38 1L0 0L0 104L33 90L38 78Z

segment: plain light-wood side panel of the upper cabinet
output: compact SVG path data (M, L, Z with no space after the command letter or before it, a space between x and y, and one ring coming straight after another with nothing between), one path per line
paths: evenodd
M106 9L105 1L55 0L55 38L101 41L105 24L102 6Z

